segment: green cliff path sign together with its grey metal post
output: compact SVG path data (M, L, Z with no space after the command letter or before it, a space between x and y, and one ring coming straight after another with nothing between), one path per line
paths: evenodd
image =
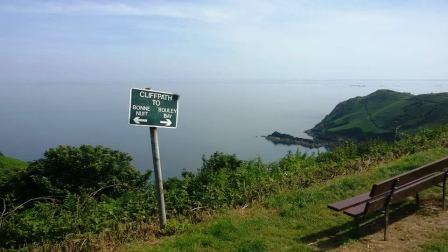
M157 128L177 127L178 99L179 96L176 94L150 89L132 88L130 92L129 124L150 127L160 228L166 226L166 211Z

